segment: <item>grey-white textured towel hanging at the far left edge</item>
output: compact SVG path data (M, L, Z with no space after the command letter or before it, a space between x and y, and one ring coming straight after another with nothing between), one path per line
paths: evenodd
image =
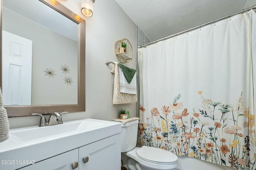
M9 121L6 109L3 106L2 92L0 89L0 142L9 138Z

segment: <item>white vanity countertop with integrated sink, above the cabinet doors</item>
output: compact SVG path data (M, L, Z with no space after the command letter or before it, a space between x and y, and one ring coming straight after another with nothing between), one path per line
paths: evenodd
M120 123L82 119L46 127L11 129L9 139L0 143L0 158L39 162L54 155L94 143L121 133ZM0 169L15 170L26 164L0 164Z

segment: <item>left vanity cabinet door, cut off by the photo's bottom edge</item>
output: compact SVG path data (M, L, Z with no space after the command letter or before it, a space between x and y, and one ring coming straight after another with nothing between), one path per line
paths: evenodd
M73 170L72 164L74 170L78 170L78 167L75 168L75 164L78 165L78 149L70 150L19 170Z

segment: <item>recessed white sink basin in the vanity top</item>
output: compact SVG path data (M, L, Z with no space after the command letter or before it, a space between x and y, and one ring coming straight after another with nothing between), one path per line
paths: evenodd
M63 135L63 133L70 133L72 131L90 131L100 125L103 125L103 123L82 120L63 123L60 125L15 129L11 130L9 135L12 140L30 141L34 139L52 137L54 135Z

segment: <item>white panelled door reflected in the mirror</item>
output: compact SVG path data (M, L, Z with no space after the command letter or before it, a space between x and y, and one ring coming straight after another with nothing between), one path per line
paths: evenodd
M2 32L2 95L5 106L31 105L32 41Z

